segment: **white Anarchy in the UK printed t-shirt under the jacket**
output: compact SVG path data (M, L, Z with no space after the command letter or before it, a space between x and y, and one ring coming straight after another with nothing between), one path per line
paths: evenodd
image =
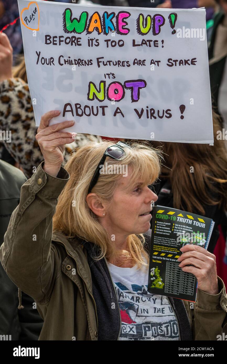
M117 267L108 262L121 312L119 340L179 340L178 325L167 297L148 292L148 269Z

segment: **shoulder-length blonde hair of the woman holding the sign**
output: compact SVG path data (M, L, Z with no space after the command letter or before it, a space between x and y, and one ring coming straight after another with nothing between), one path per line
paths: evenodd
M106 256L107 259L118 261L118 265L121 265L124 260L130 257L141 268L143 265L148 265L144 262L142 254L147 262L149 259L148 253L144 249L145 238L143 234L129 235L127 250L119 253L111 241L111 236L101 225L97 215L90 210L86 201L94 171L103 153L111 145L113 142L110 141L89 142L78 149L66 163L65 169L69 172L70 179L59 196L53 218L53 229L62 232L67 238L79 237L93 242L96 248L99 248L99 253L96 249L95 260L100 260ZM150 185L156 181L160 174L161 153L159 150L146 146L145 143L143 145L133 143L131 147L132 149L124 148L125 154L119 160L107 157L107 165L114 166L124 163L132 168L133 173L129 182L129 189L130 187L133 188L139 177L144 182L143 186ZM100 174L97 184L92 189L92 193L97 194L99 201L107 203L107 208L111 207L114 191L121 178L121 174Z

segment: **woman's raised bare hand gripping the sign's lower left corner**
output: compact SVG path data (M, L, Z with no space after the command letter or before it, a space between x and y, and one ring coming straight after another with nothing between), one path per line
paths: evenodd
M45 164L43 170L56 177L63 162L64 144L74 142L75 133L62 132L60 130L71 127L74 121L64 121L59 124L49 125L49 121L59 116L60 111L48 111L41 118L40 125L36 134L36 140L42 151Z

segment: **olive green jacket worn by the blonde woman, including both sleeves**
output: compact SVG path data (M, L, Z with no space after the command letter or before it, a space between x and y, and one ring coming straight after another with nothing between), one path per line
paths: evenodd
M61 167L58 178L52 177L42 166L21 187L0 260L11 280L37 304L44 320L39 340L97 340L86 249L77 241L70 244L62 233L52 233L58 196L70 176ZM217 340L227 332L226 288L219 277L218 283L219 294L198 289L197 303L184 301L193 340Z

